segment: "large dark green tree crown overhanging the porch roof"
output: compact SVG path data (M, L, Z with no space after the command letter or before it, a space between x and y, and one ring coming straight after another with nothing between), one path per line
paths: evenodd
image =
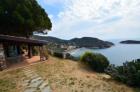
M48 15L36 0L0 0L0 34L28 37L51 27Z

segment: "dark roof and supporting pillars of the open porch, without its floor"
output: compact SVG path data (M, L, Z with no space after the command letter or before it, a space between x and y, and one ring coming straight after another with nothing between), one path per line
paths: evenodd
M37 46L40 52L40 60L43 60L43 57L44 57L43 46L47 45L46 41L29 39L29 38L24 38L24 37L15 37L15 36L9 36L9 35L0 35L0 67L6 67L7 63L10 62L9 57L7 55L9 54L7 48L9 46L16 47L16 50L18 53L17 56L20 56L22 54L21 49L20 49L22 45L26 45L28 47L29 58L32 57L32 47ZM17 57L17 56L14 56L14 57Z

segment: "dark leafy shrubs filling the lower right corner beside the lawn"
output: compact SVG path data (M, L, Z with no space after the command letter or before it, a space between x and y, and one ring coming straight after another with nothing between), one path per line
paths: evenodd
M106 72L117 81L140 87L140 59L125 62L122 66L110 66Z

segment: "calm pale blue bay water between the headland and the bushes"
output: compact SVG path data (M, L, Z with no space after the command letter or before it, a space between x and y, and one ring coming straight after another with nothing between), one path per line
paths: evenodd
M123 62L140 58L140 44L115 44L106 49L78 48L69 53L74 57L80 57L85 52L101 53L108 58L111 64L122 65Z

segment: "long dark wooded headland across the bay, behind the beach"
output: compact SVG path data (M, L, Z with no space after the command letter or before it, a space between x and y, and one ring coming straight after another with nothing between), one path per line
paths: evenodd
M71 40L63 40L56 37L41 37L41 36L33 36L35 39L45 40L49 44L57 44L57 45L71 45L76 47L87 47L87 48L108 48L113 46L112 42L103 41L98 38L92 37L83 37L83 38L73 38Z

